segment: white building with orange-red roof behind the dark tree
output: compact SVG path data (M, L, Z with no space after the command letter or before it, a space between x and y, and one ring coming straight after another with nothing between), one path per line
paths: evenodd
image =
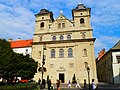
M12 41L12 39L9 39L9 42L14 52L23 54L23 55L29 55L31 57L32 42L33 42L32 39L21 40L19 38L18 40L15 40L15 41Z

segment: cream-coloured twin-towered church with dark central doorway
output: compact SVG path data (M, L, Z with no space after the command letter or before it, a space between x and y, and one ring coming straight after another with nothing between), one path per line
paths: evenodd
M87 68L90 68L90 82L97 81L96 64L94 56L94 41L90 25L90 8L78 4L72 10L72 20L67 19L62 12L54 20L53 13L41 9L36 14L36 26L32 44L32 58L38 61L38 72L34 79L42 77L39 68L43 65L46 70L43 78L56 79L62 83L76 79L88 83Z

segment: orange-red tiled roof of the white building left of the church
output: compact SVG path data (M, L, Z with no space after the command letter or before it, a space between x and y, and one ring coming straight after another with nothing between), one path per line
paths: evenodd
M33 39L17 40L17 41L11 41L10 44L12 48L23 48L23 47L31 47L32 42L33 42Z

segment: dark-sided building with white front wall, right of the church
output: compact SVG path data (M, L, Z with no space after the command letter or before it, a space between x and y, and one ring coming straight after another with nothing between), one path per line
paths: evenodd
M109 51L103 49L96 64L98 81L120 83L120 40Z

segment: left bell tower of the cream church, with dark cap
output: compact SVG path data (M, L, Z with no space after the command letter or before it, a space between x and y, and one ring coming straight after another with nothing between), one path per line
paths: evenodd
M48 30L51 23L54 21L53 13L47 9L41 9L36 16L36 29L39 30Z

